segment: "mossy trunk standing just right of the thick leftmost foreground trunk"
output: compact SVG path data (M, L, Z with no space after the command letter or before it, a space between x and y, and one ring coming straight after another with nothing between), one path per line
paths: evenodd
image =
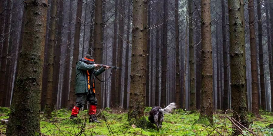
M54 63L54 47L56 43L56 18L57 18L57 0L51 1L50 6L50 23L49 23L49 41L48 41L48 60L46 62L48 67L48 76L47 76L47 88L46 88L46 98L45 98L45 115L47 118L51 118L51 112L54 110L54 100L55 91L53 86L53 68L56 63Z

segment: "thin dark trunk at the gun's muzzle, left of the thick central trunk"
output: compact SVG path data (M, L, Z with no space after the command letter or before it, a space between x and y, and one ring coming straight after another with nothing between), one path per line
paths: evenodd
M131 4L128 4L128 13L131 13ZM126 34L126 54L125 54L125 73L124 73L124 93L123 108L127 109L128 92L128 71L129 71L129 44L130 44L130 15L127 15L127 34Z

